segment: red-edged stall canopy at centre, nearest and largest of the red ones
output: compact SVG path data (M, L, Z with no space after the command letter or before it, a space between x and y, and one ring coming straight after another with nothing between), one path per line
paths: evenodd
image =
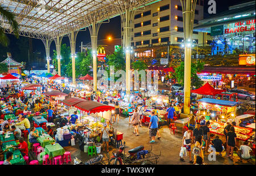
M89 113L100 113L115 109L114 106L108 106L105 104L101 104L100 102L91 100L81 101L78 104L76 104L75 107Z

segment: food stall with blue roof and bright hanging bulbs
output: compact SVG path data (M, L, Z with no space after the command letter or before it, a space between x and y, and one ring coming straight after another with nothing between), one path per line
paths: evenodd
M199 111L197 116L205 116L205 119L216 119L217 121L226 122L227 119L233 119L236 117L236 105L237 102L216 100L212 98L202 98L197 100Z

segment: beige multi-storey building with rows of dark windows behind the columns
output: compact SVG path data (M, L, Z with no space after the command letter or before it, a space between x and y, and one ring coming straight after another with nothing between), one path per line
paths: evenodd
M162 0L148 5L134 16L131 46L134 48L161 44L182 44L183 16L180 0ZM204 18L204 1L197 0L195 24ZM122 28L123 38L123 28ZM207 46L211 39L208 33L193 32L195 45Z

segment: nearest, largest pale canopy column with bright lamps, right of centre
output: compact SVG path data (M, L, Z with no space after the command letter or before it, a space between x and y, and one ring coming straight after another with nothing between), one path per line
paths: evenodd
M193 22L195 19L196 0L180 0L183 11L184 28L184 113L190 114L191 89L191 46L193 36Z

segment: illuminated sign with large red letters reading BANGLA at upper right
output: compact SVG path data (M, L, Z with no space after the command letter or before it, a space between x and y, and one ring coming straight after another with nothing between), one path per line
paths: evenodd
M246 22L234 23L234 27L226 28L224 33L237 33L237 32L246 32L246 31L255 31L255 19L248 20Z

